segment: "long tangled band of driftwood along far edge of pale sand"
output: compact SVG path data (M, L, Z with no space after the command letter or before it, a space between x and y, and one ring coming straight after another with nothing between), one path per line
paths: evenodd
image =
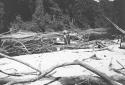
M32 35L33 34L33 35ZM89 41L89 37L86 35L71 34L71 44L64 45L63 36L60 33L48 33L48 34L34 34L26 32L13 35L6 35L2 38L1 48L4 49L10 56L36 54L53 52L62 49L89 49L93 47L104 48L109 45L109 41L105 40L92 40ZM22 36L23 35L23 36ZM16 36L16 37L15 37ZM57 41L59 38L60 41ZM75 43L73 43L75 42ZM108 42L108 43L107 43ZM113 43L111 43L113 44Z

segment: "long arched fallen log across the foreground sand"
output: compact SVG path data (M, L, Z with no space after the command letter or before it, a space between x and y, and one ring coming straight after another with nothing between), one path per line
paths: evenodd
M19 79L19 77L15 77L15 78L12 78L12 80L10 80L8 78L4 78L4 79L5 80L7 79L6 81L10 80L6 85L13 85L13 84L17 84L17 83L35 82L35 81L43 79L44 77L46 77L48 74L50 74L52 71L54 71L55 69L57 69L59 67L71 66L71 65L75 65L75 66L80 65L81 67L86 68L89 71L92 71L93 73L100 76L109 85L122 85L122 84L119 84L118 82L116 82L115 79L107 76L105 73L102 73L102 72L96 70L95 68L93 68L92 66L87 65L86 63L81 62L81 61L74 61L74 62L71 62L71 63L63 63L63 64L56 65L56 66L54 66L52 68L49 68L48 70L44 71L41 75L35 75L34 77L28 77L28 78L25 78L25 79L24 78ZM25 77L25 76L23 76L23 77Z

